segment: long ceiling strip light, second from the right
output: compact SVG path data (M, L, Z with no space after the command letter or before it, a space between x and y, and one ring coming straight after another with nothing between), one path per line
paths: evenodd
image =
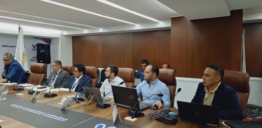
M115 21L119 21L119 22L123 22L123 23L128 23L128 24L132 24L132 25L137 25L135 23L123 21L123 20L116 19L116 18L113 18L113 17L104 16L104 15L101 15L101 14L98 14L98 13L90 12L90 11L87 11L87 10L84 10L84 9L81 9L81 8L77 8L77 7L73 7L73 6L70 6L70 5L66 5L66 4L63 4L63 3L59 3L59 2L55 2L55 1L51 1L51 0L41 0L41 1L53 3L53 4L56 4L56 5L59 5L59 6L63 6L63 7L67 7L67 8L70 8L70 9L77 10L77 11L81 11L81 12L89 13L89 14L92 14L92 15L108 18L108 19L111 19L111 20L115 20Z

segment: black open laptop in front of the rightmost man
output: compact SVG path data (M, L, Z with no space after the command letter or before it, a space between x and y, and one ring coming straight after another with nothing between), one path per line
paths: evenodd
M181 120L199 125L219 127L219 107L191 102L177 101L178 113Z

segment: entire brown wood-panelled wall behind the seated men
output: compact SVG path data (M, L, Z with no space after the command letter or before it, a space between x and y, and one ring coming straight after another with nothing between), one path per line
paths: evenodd
M170 63L177 77L192 78L201 78L209 64L239 71L242 15L242 10L234 10L228 17L175 17L171 30L73 37L73 63L138 69L141 60L148 59L160 68Z

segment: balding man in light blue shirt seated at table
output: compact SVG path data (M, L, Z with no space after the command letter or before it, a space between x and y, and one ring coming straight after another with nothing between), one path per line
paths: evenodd
M170 92L167 85L161 82L157 76L159 74L159 68L156 65L148 65L144 74L144 81L140 83L136 89L137 94L141 95L143 99L154 95L154 94L163 94L163 97L154 95L143 102L151 103L157 105L158 108L163 106L161 100L164 102L164 106L170 106Z

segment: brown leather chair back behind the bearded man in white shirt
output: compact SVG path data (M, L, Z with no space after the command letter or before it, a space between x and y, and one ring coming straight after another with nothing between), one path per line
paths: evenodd
M135 70L130 68L118 68L117 76L122 78L126 87L134 88Z

